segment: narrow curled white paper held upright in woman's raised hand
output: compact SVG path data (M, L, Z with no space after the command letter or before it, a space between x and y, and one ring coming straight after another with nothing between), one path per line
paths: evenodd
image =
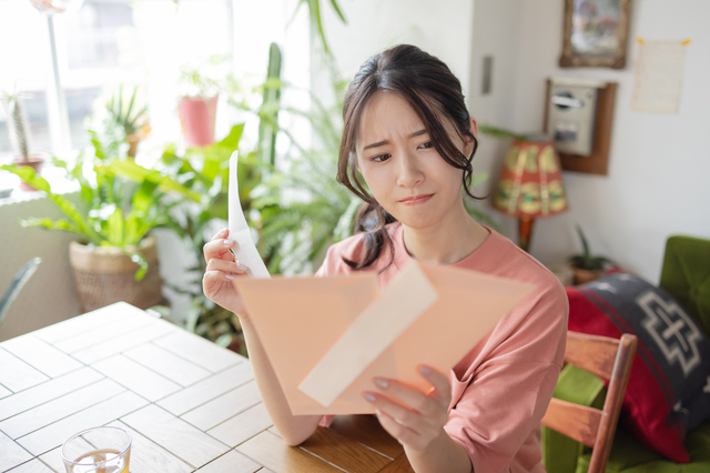
M236 244L232 249L240 263L248 268L248 273L253 278L271 278L268 270L264 264L264 260L256 251L252 233L246 224L244 212L242 211L242 202L240 201L240 185L237 180L237 151L232 153L230 158L230 190L229 217L230 217L230 239L235 240Z

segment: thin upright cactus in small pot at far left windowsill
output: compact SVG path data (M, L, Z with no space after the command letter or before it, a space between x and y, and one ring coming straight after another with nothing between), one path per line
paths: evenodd
M1 97L2 108L8 117L8 133L10 134L10 143L16 153L13 162L19 167L32 168L33 172L39 174L44 164L47 154L42 152L30 153L30 137L27 121L27 113L21 93L3 92ZM24 191L34 191L32 185L27 182L20 183L20 189Z

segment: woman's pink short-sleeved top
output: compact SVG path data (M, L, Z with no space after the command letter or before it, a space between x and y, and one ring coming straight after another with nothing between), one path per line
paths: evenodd
M490 235L464 260L453 264L537 286L500 320L449 374L453 399L448 423L452 439L460 442L474 472L544 472L539 443L545 415L562 366L569 312L565 289L557 278L510 240L486 227ZM385 286L412 260L404 246L399 222L387 225L394 263L379 274ZM359 261L362 235L332 245L316 276L351 273L342 256ZM364 271L387 265L383 251ZM329 426L332 415L321 425Z

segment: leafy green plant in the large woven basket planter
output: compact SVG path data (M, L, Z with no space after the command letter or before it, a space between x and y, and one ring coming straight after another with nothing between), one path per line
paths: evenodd
M168 192L178 192L193 201L200 201L200 195L132 160L112 158L118 144L102 143L95 132L92 135L95 147L92 162L85 162L83 154L73 165L54 159L54 164L79 184L79 205L52 192L47 180L32 168L0 167L45 192L67 217L55 221L34 218L22 221L22 225L79 235L80 241L70 244L69 256L82 312L118 301L142 309L160 304L163 296L158 250L150 231L168 225L171 219L165 211L170 203L158 202L165 199ZM131 174L133 179L119 174Z

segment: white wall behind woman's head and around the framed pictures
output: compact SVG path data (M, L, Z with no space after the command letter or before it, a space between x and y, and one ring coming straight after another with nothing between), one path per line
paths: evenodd
M473 9L471 9L473 6ZM343 1L348 26L325 7L326 33L338 66L352 78L369 54L412 42L440 57L464 84L470 112L479 122L516 131L541 131L545 80L551 76L590 77L619 82L609 173L565 172L570 210L538 220L530 252L551 268L581 250L575 224L591 249L658 282L666 239L686 233L710 238L710 2L632 0L627 67L560 69L564 2L559 0ZM690 38L680 113L630 110L636 37ZM493 92L480 93L483 57L494 56ZM495 181L507 143L481 137L474 170ZM487 185L477 189L485 194ZM516 240L515 219L490 213Z

